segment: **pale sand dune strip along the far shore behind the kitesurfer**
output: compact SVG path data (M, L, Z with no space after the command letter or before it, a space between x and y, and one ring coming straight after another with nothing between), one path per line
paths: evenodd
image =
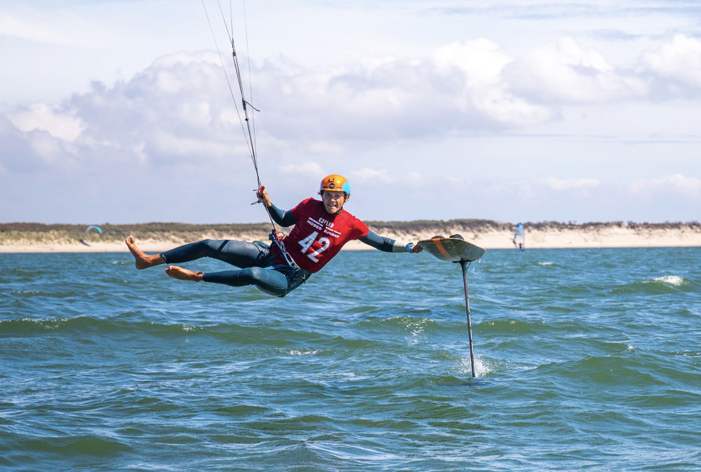
M514 248L512 243L513 225L498 224L492 221L425 222L422 224L371 224L371 229L381 236L398 241L417 241L431 236L461 234L465 240L486 249ZM397 229L399 226L399 229ZM115 226L117 227L117 226ZM201 228L201 226L197 226ZM409 229L407 229L409 228ZM526 248L616 248L616 247L677 247L701 246L701 225L688 224L525 224ZM125 229L126 231L126 229ZM145 236L148 234L148 236ZM60 253L60 252L125 252L127 247L123 234L105 232L99 238L94 234L81 243L77 236L55 234L52 231L28 232L21 234L0 231L0 253ZM189 231L183 233L161 232L154 236L135 234L139 247L147 252L165 251L182 243L204 238L241 239L265 241L267 234L257 231ZM359 250L370 247L352 241L344 249Z

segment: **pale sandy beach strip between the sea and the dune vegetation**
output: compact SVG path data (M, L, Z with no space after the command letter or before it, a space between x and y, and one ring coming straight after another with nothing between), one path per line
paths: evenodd
M498 229L487 226L485 228L469 228L450 224L437 225L433 228L423 228L421 231L399 232L389 231L386 228L372 228L378 234L394 238L397 241L418 241L432 236L450 236L462 234L466 241L485 249L510 249L514 248L512 242L512 229ZM189 235L193 236L193 235ZM194 238L183 238L175 234L161 238L139 238L137 243L142 250L152 253L165 251L179 246L182 243L197 241L204 238L215 239L241 239L265 241L265 234L258 233L231 233L231 234L203 234ZM617 248L617 247L682 247L701 246L701 226L698 224L674 224L674 225L633 225L620 224L596 224L596 225L559 225L529 228L525 231L527 249L535 248ZM68 252L127 252L122 238L100 238L90 241L90 246L80 241L70 241L65 238L42 238L40 241L32 239L7 239L0 235L0 253L68 253ZM344 246L344 250L370 249L369 246L359 241L352 241Z

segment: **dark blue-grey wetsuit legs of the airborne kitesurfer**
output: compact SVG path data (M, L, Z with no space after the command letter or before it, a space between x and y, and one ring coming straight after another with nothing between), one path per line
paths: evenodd
M295 271L288 266L276 266L270 248L245 241L205 239L171 249L161 253L161 256L169 264L203 257L230 263L239 269L207 272L204 273L203 280L233 287L255 285L259 290L278 297L284 297L301 285L301 281L297 283L300 276L303 275L302 280L309 278L307 271L303 271L305 274L298 273L302 269Z

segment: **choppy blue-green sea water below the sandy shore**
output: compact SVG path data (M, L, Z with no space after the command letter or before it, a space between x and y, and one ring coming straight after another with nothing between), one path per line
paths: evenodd
M701 470L701 248L490 250L468 282L475 378L428 253L285 298L0 254L0 469Z

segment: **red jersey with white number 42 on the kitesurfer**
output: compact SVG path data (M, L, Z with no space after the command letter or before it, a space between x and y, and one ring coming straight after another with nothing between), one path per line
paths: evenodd
M367 236L366 224L347 211L329 214L322 201L302 201L292 210L295 227L285 236L285 249L297 266L315 273L330 261L348 241Z

